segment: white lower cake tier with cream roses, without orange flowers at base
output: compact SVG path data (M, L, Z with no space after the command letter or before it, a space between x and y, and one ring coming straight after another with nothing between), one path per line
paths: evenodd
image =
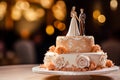
M107 61L107 54L104 52L93 53L71 53L71 54L57 54L54 52L47 52L44 58L45 66L51 63L57 69L61 68L89 68L91 63L94 67L105 67Z

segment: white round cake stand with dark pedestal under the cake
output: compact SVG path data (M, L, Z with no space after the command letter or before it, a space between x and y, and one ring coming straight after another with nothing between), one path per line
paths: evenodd
M47 75L60 75L60 80L90 80L91 75L100 75L119 70L118 66L113 66L110 68L103 68L100 70L94 71L84 71L84 72L75 72L75 71L52 71L45 68L40 68L39 66L33 67L32 71L39 74Z

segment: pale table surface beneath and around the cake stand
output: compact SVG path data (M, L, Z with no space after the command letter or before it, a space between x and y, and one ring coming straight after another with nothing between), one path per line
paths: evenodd
M32 72L37 64L0 66L0 80L59 80L60 76ZM120 80L120 70L101 75L92 75L92 80ZM70 79L72 80L72 79ZM89 80L89 79L86 79Z

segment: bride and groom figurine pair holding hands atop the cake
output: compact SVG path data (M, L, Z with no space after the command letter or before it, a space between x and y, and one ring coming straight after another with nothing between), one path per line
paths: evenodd
M77 17L77 12L75 11L76 7L73 6L71 10L71 22L69 26L69 30L67 36L83 36L85 35L85 19L86 15L84 13L84 9L80 9L80 15ZM79 27L77 24L79 22Z

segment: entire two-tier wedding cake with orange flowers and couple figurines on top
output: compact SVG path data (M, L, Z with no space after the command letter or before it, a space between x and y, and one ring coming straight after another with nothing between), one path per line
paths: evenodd
M57 36L56 46L49 47L44 64L40 67L58 71L90 71L114 66L113 62L107 59L107 53L95 44L94 37L84 35L86 16L83 9L78 18L73 7L71 17L68 33L66 36Z

